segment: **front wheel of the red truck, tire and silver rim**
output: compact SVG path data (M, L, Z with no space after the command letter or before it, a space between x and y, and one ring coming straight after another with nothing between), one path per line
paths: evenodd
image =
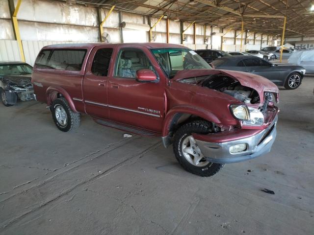
M209 177L221 170L224 164L208 162L197 146L192 133L208 134L211 124L207 121L192 121L180 127L174 137L173 151L183 168L195 175Z

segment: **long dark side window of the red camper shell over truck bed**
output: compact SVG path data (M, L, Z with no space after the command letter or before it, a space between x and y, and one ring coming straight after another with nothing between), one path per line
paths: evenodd
M43 50L38 55L35 65L38 68L80 71L86 51L86 49Z

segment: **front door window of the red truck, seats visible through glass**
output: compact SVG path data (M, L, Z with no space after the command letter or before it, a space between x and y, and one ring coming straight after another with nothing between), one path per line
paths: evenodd
M144 69L155 72L148 57L142 50L121 49L117 58L114 76L135 78L136 71Z

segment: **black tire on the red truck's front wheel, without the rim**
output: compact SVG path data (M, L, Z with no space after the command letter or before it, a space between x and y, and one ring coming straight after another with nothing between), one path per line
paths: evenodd
M197 134L208 134L211 131L211 123L203 120L192 121L181 126L174 136L173 141L173 151L175 153L176 159L183 166L183 168L195 175L202 177L209 177L221 170L225 164L211 163L205 166L195 166L190 164L184 157L182 151L182 144L184 138L190 136L192 133Z

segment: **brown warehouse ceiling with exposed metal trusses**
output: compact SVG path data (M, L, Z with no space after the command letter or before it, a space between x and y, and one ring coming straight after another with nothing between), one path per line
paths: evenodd
M69 1L69 0L68 0ZM314 35L312 0L70 0L169 19L280 35L287 16L287 36Z

